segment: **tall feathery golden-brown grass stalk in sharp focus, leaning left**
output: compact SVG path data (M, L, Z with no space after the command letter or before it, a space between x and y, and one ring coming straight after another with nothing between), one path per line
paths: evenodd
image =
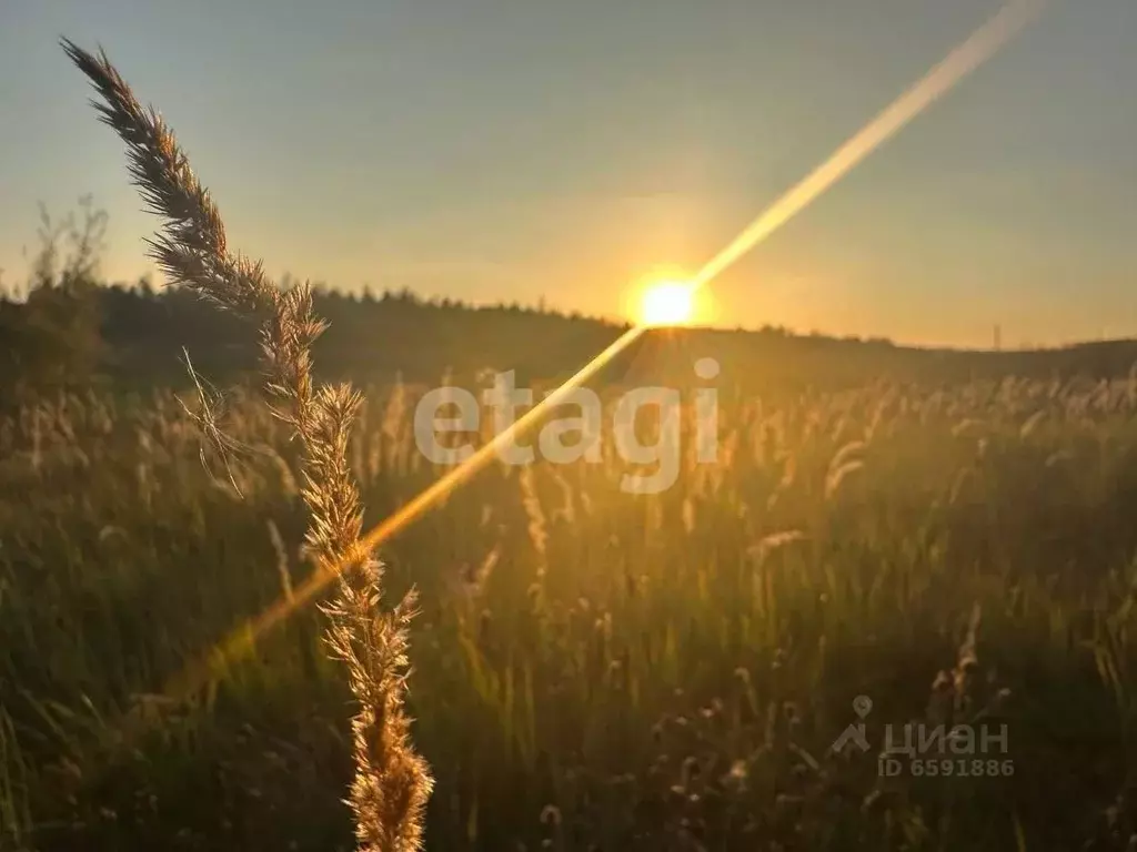
M347 567L339 594L324 611L331 620L329 646L346 662L359 704L352 720L356 776L349 799L359 847L417 850L433 782L410 745L404 709L415 594L384 612L383 566L359 544L363 512L347 449L362 398L349 385L313 383L312 345L326 325L313 312L307 284L282 292L259 262L230 253L216 206L157 111L141 106L106 53L94 56L67 40L63 47L101 97L102 102L92 101L100 120L126 143L134 185L150 211L165 220L157 239L148 241L150 256L172 282L260 324L274 414L304 446L307 538L317 570ZM201 418L207 434L219 435L208 409Z

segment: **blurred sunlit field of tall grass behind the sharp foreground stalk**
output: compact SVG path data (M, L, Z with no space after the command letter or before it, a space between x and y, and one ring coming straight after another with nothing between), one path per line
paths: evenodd
M442 473L412 401L367 394L371 523ZM351 849L313 607L160 694L310 570L283 428L240 400L224 427L239 492L172 395L0 425L6 852ZM421 590L428 847L1134 849L1137 378L724 395L720 427L661 494L612 452L495 465L384 546L392 600ZM858 695L871 747L833 753ZM921 720L1006 752L882 777Z

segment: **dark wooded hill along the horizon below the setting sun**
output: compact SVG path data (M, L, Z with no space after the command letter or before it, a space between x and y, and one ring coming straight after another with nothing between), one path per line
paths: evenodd
M316 311L330 327L316 346L317 373L382 384L400 375L470 385L484 369L517 373L518 385L564 378L628 326L517 306L470 307L410 292L345 294L317 290ZM214 383L257 369L256 328L176 287L92 286L60 276L25 301L0 300L0 376L5 384L82 383L94 377L130 386ZM746 392L833 390L875 379L954 382L1005 375L1036 378L1126 375L1137 341L1037 351L929 350L781 328L655 329L629 346L599 381L684 384L694 362L713 357L721 383Z

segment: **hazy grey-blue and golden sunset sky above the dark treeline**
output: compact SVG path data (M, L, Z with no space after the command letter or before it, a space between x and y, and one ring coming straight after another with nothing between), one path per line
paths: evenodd
M998 0L0 0L0 268L39 204L157 219L58 47L159 108L273 275L622 317L694 274ZM707 291L707 318L901 343L1137 336L1137 3L1053 0ZM157 281L160 277L155 276Z

